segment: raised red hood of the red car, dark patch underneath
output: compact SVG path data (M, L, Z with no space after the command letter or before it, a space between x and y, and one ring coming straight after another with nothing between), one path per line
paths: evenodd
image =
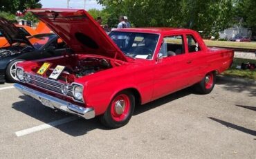
M75 53L103 55L127 61L99 24L85 10L28 10L62 38Z

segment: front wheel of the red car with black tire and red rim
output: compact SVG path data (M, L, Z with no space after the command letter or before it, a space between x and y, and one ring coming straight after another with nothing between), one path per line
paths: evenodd
M121 111L122 114L118 116L119 114L116 113L117 112L116 106L118 106L118 104L120 104L120 101L122 100L124 101L122 104L125 103L125 106L122 107L122 111ZM128 100L129 102L127 102ZM134 108L135 108L134 95L129 91L121 91L120 93L115 95L115 97L113 97L113 99L109 104L109 107L107 108L107 111L105 111L105 113L102 116L100 116L100 122L104 124L105 127L108 127L110 129L123 127L131 119L131 116L134 113ZM120 111L120 107L118 107L118 110Z

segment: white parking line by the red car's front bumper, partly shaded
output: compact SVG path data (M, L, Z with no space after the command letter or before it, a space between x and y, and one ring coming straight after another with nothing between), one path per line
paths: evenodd
M55 127L57 125L64 124L66 122L71 122L71 121L77 120L77 119L78 119L78 117L71 116L71 117L68 117L68 118L64 118L62 120L56 120L54 122L49 122L48 124L42 124L42 125L39 125L37 127L31 127L31 128L28 128L28 129L17 131L17 132L15 132L15 134L17 135L17 137L20 137L20 136L23 136L23 135L28 135L29 133L34 133L34 132L37 132L37 131L42 131L44 129L49 129L51 127Z

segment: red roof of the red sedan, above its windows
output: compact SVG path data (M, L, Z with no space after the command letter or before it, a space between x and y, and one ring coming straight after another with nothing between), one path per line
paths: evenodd
M122 32L145 32L145 33L167 33L167 32L194 32L187 28L121 28L113 31L122 31Z

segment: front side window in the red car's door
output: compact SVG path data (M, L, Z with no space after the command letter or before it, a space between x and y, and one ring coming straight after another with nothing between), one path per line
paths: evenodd
M183 36L175 35L164 37L160 53L163 57L172 57L184 54Z

